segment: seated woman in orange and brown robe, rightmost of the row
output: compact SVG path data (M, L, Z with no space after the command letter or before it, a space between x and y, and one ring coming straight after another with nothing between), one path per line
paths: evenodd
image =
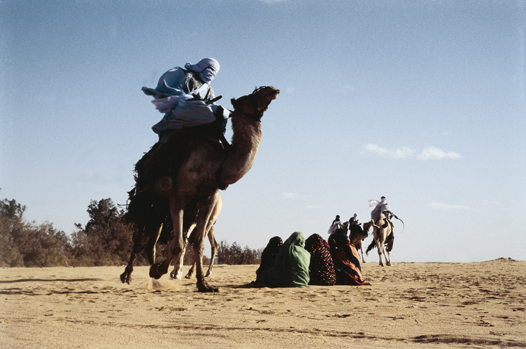
M329 246L336 272L336 285L371 285L364 281L360 255L350 243L349 237L343 234L343 229L336 230L329 237Z

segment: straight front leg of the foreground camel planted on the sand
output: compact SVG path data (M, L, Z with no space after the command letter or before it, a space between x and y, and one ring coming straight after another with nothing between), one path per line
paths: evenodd
M213 288L204 279L203 274L203 251L204 239L206 237L206 228L210 221L210 216L213 211L215 203L218 201L218 193L214 193L208 198L204 198L199 202L199 214L197 214L196 235L194 239L194 256L196 258L196 278L197 289L199 292L218 292L218 288Z

